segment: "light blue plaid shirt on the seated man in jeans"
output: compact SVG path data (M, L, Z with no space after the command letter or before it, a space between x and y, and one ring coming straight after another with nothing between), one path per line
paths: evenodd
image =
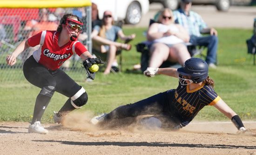
M202 17L193 11L189 11L188 16L182 11L182 9L174 11L173 14L175 23L181 24L189 32L190 36L195 35L200 37L202 36L200 31L207 28L207 25L202 20Z

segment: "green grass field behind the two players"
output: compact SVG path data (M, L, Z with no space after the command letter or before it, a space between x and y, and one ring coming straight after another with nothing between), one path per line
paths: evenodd
M136 33L135 45L143 40L146 29L124 29L125 34ZM243 120L256 120L256 66L252 56L247 54L245 40L252 31L241 29L218 29L218 68L210 69L209 75L216 83L218 95L241 116ZM164 75L147 78L140 72L130 71L140 62L140 53L135 46L131 51L123 52L123 72L104 76L96 74L93 82L84 81L86 74L76 72L76 81L88 92L88 104L80 112L110 112L118 105L133 103L155 93L177 87L178 79ZM3 63L3 62L1 62ZM0 69L0 78L9 71ZM13 76L23 76L21 69L12 71ZM74 76L71 75L71 76ZM0 121L30 121L34 101L40 89L29 84L25 78L19 82L4 81L0 83ZM59 93L54 96L47 107L43 122L53 122L53 111L58 111L67 100ZM205 107L195 117L197 120L227 120L212 106Z

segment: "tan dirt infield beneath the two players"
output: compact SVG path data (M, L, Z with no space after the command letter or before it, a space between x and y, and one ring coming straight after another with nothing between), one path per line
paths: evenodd
M72 119L71 119L72 120ZM245 122L256 132L256 122ZM27 133L28 123L0 122L1 155L256 155L256 136L236 135L231 122L192 122L179 131L99 130L72 120Z

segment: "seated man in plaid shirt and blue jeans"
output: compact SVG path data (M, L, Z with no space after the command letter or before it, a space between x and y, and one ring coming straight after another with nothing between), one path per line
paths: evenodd
M218 47L217 31L208 28L202 17L191 11L192 0L181 0L180 9L174 11L175 23L181 24L190 35L189 42L194 45L207 46L206 62L210 68L216 68L216 52ZM202 36L209 33L209 36Z

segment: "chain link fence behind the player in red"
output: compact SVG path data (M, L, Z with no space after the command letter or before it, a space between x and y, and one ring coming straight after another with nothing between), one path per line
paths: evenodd
M6 56L11 54L21 41L43 30L56 30L61 17L72 13L81 18L84 26L79 41L91 52L91 7L75 8L0 8L0 83L25 81L23 63L39 48L30 47L18 57L15 65L8 66ZM62 68L74 80L85 79L81 59L73 55ZM79 74L78 74L79 73Z

